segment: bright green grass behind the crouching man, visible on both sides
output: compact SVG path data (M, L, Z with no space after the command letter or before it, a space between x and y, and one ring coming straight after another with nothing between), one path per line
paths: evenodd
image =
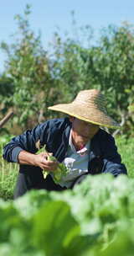
M4 200L13 199L13 189L18 175L18 164L7 163L3 160L3 145L9 141L9 138L0 140L0 197ZM5 143L6 142L6 143ZM121 154L122 163L125 163L129 178L134 178L133 152L134 138L126 140L125 136L116 137L118 152Z

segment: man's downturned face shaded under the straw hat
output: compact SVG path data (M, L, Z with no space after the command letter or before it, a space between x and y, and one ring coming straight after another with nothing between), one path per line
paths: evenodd
M72 139L78 147L85 145L99 131L99 125L94 125L75 117L70 117L72 123Z

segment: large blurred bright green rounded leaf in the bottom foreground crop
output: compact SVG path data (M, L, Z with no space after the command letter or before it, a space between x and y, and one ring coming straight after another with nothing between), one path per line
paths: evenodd
M43 249L47 256L62 254L70 240L80 234L70 206L62 201L44 205L33 217L33 223L33 244Z

